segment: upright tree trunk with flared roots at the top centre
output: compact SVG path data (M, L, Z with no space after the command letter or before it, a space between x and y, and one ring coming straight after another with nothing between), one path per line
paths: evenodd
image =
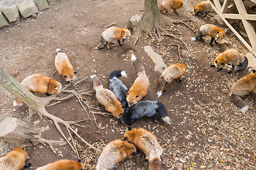
M133 35L137 38L134 42L136 45L142 33L148 34L151 38L154 37L156 32L160 38L160 31L166 33L166 31L161 28L161 25L171 26L173 23L166 19L159 11L157 0L144 0L144 13L139 15L139 21L134 21L133 18L138 18L132 16L129 18L127 23L127 28L131 28ZM153 32L153 34L152 34Z

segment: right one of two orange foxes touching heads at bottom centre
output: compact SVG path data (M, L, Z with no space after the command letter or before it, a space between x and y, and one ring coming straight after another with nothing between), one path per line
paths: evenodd
M163 149L157 142L156 137L149 131L143 128L128 128L124 133L124 140L132 142L136 147L142 149L149 160L149 170L161 169L161 154Z

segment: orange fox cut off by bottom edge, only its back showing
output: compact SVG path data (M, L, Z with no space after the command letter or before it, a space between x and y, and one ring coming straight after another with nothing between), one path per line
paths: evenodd
M70 161L68 159L60 159L45 166L41 166L36 170L83 170L84 166L81 164L81 159L78 161Z

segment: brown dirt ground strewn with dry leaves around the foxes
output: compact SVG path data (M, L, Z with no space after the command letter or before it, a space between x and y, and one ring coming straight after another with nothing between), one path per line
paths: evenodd
M178 9L180 15L171 10L166 17L170 20L192 20L186 22L192 28L198 28L203 23L215 23L213 17L193 16L191 7L199 1L183 1L183 8ZM159 1L159 4L161 1ZM241 113L228 98L230 86L250 73L247 68L242 72L227 74L226 67L222 72L216 72L210 63L218 52L229 47L235 47L246 54L238 40L230 34L223 44L210 47L209 39L204 42L191 41L194 33L175 24L166 27L169 33L182 38L189 48L174 38L164 38L165 43L176 43L181 46L181 58L178 57L176 45L165 46L156 40L144 36L135 47L134 39L124 41L119 47L112 45L113 50L95 50L100 42L100 35L112 23L117 27L124 27L130 16L142 13L143 0L93 0L93 1L58 1L49 9L39 12L36 18L23 19L0 30L0 59L1 67L11 74L14 79L21 82L30 74L43 74L60 81L65 85L62 77L55 72L55 50L60 48L69 57L74 68L78 68L78 77L88 77L78 86L69 89L88 89L92 91L90 76L97 74L105 88L109 88L108 76L115 69L122 69L127 73L127 79L122 78L129 88L137 74L130 61L134 53L144 63L150 86L148 95L144 100L161 101L171 118L171 125L165 125L159 120L155 123L152 118L142 118L131 125L131 128L145 128L154 132L160 145L164 149L162 169L255 169L255 93L248 95L245 101L250 108L247 113ZM161 98L156 97L156 82L161 75L154 72L154 62L144 52L144 46L151 45L154 50L164 58L165 64L183 62L187 72L182 82L174 80L167 86ZM6 117L26 119L28 108L21 106L14 108L14 96L0 87L0 121ZM88 97L91 106L97 107L96 98ZM47 107L47 111L63 120L83 120L87 115L76 98L70 98L55 106ZM127 129L112 115L96 115L102 134L98 132L95 123L85 121L80 125L90 125L78 128L78 133L90 144L104 147L108 142L121 139ZM48 140L60 140L62 137L55 129L51 120L40 119L33 115L32 121L41 120L39 125L50 127L43 133ZM76 139L80 157L83 159L85 169L93 169L100 153L85 147L84 143ZM1 154L13 146L1 141ZM58 159L78 159L69 145L55 146L58 154L53 154L49 147L37 145L26 147L33 166L36 169ZM117 166L117 169L147 169L144 154L138 152L137 156L127 159Z

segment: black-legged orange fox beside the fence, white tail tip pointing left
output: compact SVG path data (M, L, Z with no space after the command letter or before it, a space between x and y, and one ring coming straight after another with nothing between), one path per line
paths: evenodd
M213 47L213 40L215 44L218 44L216 40L223 40L225 36L225 32L223 29L218 28L218 26L212 24L205 24L198 29L196 34L191 38L191 40L195 41L200 37L201 42L203 42L203 37L209 35L211 37L210 46Z

